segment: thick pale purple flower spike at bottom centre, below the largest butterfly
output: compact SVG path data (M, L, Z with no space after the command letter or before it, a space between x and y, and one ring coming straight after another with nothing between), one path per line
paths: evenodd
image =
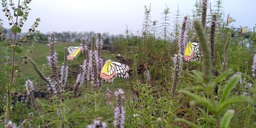
M117 97L117 105L115 107L115 114L114 114L114 126L124 127L124 120L125 120L125 111L123 107L124 92L122 89L118 89L118 91L116 91L114 95Z

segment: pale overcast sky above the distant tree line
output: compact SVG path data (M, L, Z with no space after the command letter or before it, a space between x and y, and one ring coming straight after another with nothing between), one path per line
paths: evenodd
M15 3L16 1L14 0ZM213 6L215 1L209 2ZM44 33L95 31L121 34L126 29L125 24L136 33L141 30L144 5L149 7L151 4L152 20L160 21L165 4L170 8L170 18L174 18L177 5L182 14L186 15L192 13L195 2L196 0L33 0L29 4L32 11L23 32L29 29L36 17L40 17L38 30ZM224 0L223 7L225 16L229 13L237 20L231 25L253 28L256 23L255 5L256 0ZM4 27L10 28L3 11L0 12L0 18L4 20Z

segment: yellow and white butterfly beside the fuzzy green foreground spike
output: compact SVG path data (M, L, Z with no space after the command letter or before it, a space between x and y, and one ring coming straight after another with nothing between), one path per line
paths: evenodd
M186 61L198 60L199 53L199 43L197 41L188 42L184 52L184 59Z

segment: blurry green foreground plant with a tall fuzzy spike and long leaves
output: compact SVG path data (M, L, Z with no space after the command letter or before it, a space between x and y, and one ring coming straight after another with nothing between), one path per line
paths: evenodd
M221 113L224 111L230 104L237 103L237 102L250 102L251 99L248 97L242 97L242 96L234 96L230 99L228 99L231 90L236 86L236 84L239 81L240 75L233 76L228 83L223 86L224 88L219 85L219 89L221 89L221 97L216 98L216 95L214 94L214 88L217 86L219 82L221 82L227 75L229 75L231 72L227 71L223 74L220 74L220 76L216 77L215 79L211 79L211 64L210 64L210 51L208 42L205 37L204 30L202 29L202 26L200 25L198 20L195 20L194 22L195 28L197 31L197 35L199 37L201 47L203 50L203 72L202 74L194 71L194 74L197 75L202 82L205 84L205 87L203 86L197 86L202 91L205 91L205 94L200 96L197 94L193 94L189 91L181 90L179 91L182 94L185 94L192 99L194 99L197 103L205 106L207 108L207 113L210 111L212 114L215 115L217 127L228 127L229 122L233 116L234 111L228 110L226 111L225 115L223 116L221 120ZM211 81L211 82L210 82ZM219 91L218 91L219 92ZM205 97L207 95L207 98ZM193 102L192 102L193 103ZM194 124L192 122L189 122L184 119L177 119L178 121L183 121L193 127L201 127L200 125ZM206 124L207 125L207 124Z

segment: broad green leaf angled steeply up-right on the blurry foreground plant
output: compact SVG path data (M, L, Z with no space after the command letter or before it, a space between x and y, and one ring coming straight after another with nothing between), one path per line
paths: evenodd
M236 86L240 77L241 75L234 75L233 78L231 78L229 82L225 85L224 89L222 90L220 103L223 103L227 100L228 95L230 94L234 86Z

